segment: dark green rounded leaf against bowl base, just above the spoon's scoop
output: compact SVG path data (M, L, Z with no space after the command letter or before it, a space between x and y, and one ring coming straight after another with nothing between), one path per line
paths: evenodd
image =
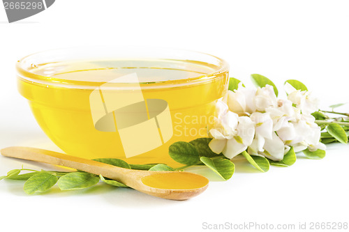
M198 150L192 144L177 141L168 150L170 157L181 164L194 165L200 162Z

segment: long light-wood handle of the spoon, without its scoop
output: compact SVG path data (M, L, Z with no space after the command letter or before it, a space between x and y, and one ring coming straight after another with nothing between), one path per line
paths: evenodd
M1 149L1 154L6 157L70 167L73 169L94 173L96 175L101 174L104 177L119 181L123 181L131 171L130 169L123 169L110 164L104 164L94 160L87 160L80 157L74 157L39 148L13 146ZM132 171L134 172L135 170Z

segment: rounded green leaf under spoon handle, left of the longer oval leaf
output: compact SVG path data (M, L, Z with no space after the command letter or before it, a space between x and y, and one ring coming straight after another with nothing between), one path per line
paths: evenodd
M50 189L53 185L57 183L57 176L52 175L46 171L40 171L31 176L24 183L24 192L27 194L34 194L36 192L44 192Z

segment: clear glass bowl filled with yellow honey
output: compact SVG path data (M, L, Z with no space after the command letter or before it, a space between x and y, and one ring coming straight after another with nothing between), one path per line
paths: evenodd
M19 72L18 88L69 155L178 167L168 147L207 137L216 100L227 91L228 70L218 68L172 59L35 63Z

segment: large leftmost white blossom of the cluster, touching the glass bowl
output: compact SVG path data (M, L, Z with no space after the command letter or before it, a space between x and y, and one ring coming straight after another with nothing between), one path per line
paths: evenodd
M251 118L238 116L232 111L227 111L217 118L215 127L209 130L213 139L209 148L214 153L223 153L231 159L242 153L252 143L255 127Z

